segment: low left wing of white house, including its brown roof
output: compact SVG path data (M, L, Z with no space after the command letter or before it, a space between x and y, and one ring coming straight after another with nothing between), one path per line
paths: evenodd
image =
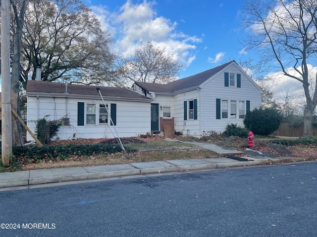
M57 136L74 138L131 137L151 131L153 99L127 88L74 85L48 81L27 82L27 125L62 119ZM27 134L27 141L34 140Z

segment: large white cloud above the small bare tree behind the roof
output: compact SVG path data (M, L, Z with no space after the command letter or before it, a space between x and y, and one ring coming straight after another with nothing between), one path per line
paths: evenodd
M178 31L176 22L158 16L155 4L146 0L133 4L127 0L119 10L113 12L109 12L106 6L92 6L91 9L100 19L103 29L114 38L115 50L132 54L141 41L153 41L173 52L175 61L184 67L189 66L195 59L195 44L202 42L202 39Z

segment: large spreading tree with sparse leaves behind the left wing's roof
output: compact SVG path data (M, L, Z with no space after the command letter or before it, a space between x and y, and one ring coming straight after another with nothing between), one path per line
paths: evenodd
M113 42L99 20L80 0L32 0L22 35L20 81L42 80L99 84L111 82Z

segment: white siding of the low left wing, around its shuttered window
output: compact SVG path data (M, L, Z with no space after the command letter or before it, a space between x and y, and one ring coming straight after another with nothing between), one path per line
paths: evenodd
M151 104L150 102L135 101L105 101L106 104L116 104L116 125L77 125L78 102L102 104L102 100L92 99L67 99L67 109L65 98L36 97L28 96L27 101L27 125L31 131L35 132L35 121L47 117L47 120L60 119L67 115L70 125L62 126L57 131L57 136L61 140L71 139L73 134L76 138L113 138L132 137L146 134L151 131ZM67 110L67 112L66 112ZM98 116L97 116L98 117ZM110 120L110 119L109 119ZM27 133L27 140L34 140Z

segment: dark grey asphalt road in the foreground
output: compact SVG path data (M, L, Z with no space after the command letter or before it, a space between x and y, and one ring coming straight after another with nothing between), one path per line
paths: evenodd
M317 162L0 192L0 223L1 237L315 237Z

